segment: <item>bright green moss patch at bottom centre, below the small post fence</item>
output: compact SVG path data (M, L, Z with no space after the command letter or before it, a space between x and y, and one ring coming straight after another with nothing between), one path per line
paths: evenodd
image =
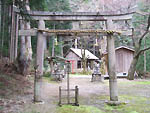
M64 105L57 108L56 113L104 113L93 106L71 106Z

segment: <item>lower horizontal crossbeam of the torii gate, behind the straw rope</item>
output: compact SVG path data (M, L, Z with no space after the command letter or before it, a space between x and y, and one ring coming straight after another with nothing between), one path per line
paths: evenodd
M37 29L30 29L30 30L19 30L19 36L37 36ZM90 36L90 35L97 35L98 36L107 36L107 32L105 30L41 30L47 32L45 36L53 36L55 34L61 36ZM65 32L63 32L65 31ZM81 32L79 32L81 31ZM109 31L108 31L109 32ZM121 33L121 35L131 36L132 30L122 30L116 31L114 35Z

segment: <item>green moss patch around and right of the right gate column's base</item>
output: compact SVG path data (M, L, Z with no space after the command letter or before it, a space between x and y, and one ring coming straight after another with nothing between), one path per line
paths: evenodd
M106 113L150 113L150 99L140 96L121 95L119 100L127 104L110 106L105 104Z

